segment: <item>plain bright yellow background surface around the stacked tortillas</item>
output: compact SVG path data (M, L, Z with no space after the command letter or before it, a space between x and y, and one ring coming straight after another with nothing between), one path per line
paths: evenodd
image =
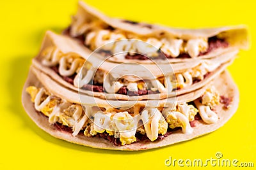
M222 152L223 159L254 162L256 166L256 46L253 41L256 4L253 1L87 2L113 17L173 27L248 25L251 49L241 52L228 67L239 87L239 109L218 131L143 152L99 150L53 138L26 115L20 102L21 90L44 32L47 29L60 32L67 27L70 16L76 12L77 1L1 1L0 169L172 169L164 166L164 160L170 156L209 159L215 158L216 152Z

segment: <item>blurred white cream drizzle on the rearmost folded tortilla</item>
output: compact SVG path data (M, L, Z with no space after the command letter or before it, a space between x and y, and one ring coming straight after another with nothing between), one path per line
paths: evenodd
M84 43L91 46L92 50L102 47L104 50L110 50L113 54L122 50L122 52L143 53L148 57L157 57L159 48L171 57L178 57L180 52L188 52L191 57L197 57L200 52L205 52L208 48L205 38L189 39L187 42L177 38L147 38L145 39L147 43L127 38L129 37L123 33L102 29L89 32ZM120 39L125 39L124 43L116 41Z

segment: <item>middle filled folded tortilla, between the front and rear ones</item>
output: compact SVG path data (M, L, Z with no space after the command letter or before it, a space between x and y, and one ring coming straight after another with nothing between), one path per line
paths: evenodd
M115 63L102 60L98 53L91 54L77 41L47 31L33 66L65 87L90 96L156 100L203 87L234 60L237 52L172 65L169 62Z

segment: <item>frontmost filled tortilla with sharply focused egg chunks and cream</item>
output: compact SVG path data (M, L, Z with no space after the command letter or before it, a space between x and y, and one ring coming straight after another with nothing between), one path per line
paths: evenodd
M116 101L117 102L117 101ZM78 96L31 67L22 92L29 117L52 136L79 145L146 150L202 136L236 112L237 87L222 72L201 89L159 101L115 101Z

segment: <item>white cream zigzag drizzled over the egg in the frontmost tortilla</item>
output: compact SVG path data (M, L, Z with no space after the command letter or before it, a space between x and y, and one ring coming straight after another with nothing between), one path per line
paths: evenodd
M47 97L45 96L46 98L43 100L42 97L45 94ZM42 111L50 103L52 98L54 96L48 95L45 89L41 88L35 96L36 110ZM202 120L207 124L216 123L218 121L216 113L209 106L200 103L199 100L196 99L194 103L199 110ZM168 115L172 115L175 120L178 120L182 124L182 132L185 134L191 134L193 132L193 128L189 124L189 106L186 103L178 104L177 106L179 111L176 111L173 106L168 106L163 109L162 113L157 108L144 108L141 115L140 106L134 106L133 116L127 111L116 113L108 109L103 112L96 106L85 106L86 114L83 114L83 109L79 104L60 101L60 104L54 106L52 109L52 113L49 115L49 122L51 124L58 122L60 120L60 114L70 109L72 111L72 117L68 117L67 121L68 124L72 125L73 136L76 136L83 129L88 117L93 116L95 121L93 129L96 132L102 133L106 130L116 131L111 125L114 123L121 137L132 138L138 129L138 122L142 120L148 139L154 141L157 139L159 133L159 120L164 120Z

